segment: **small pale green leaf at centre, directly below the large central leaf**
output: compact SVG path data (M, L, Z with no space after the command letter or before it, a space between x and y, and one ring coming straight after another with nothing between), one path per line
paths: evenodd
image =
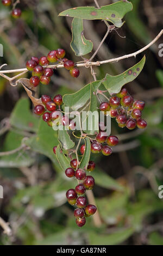
M61 147L64 149L71 149L74 147L74 142L70 138L70 135L68 135L67 130L58 130L58 141L61 144Z

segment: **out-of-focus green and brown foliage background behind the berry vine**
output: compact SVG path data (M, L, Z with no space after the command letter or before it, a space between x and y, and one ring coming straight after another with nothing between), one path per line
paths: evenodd
M98 1L99 5L113 2L116 1ZM135 52L160 32L162 1L131 2L134 9L126 15L126 23L108 35L95 60ZM13 20L9 9L0 4L0 43L4 47L0 65L24 68L31 56L41 57L58 47L66 50L66 57L82 60L74 56L70 47L72 19L58 14L87 5L94 5L93 0L22 0L22 17ZM104 22L84 21L85 37L92 40L93 51L105 32ZM130 132L118 128L113 120L112 134L118 134L123 144L109 157L98 155L95 160L91 155L97 163L92 175L102 218L100 227L96 227L93 218L88 218L83 228L76 226L73 207L65 198L66 190L74 187L75 181L65 178L52 152L58 144L57 134L32 114L24 89L11 87L0 77L0 151L20 147L24 137L30 146L29 150L0 156L0 185L4 188L0 216L12 229L12 235L7 236L0 228L1 245L163 245L163 199L158 197L158 187L163 185L163 57L158 54L161 42L162 38L146 51L145 68L126 86L136 99L146 102L143 118L148 121L147 129ZM120 74L143 54L136 60L130 58L96 68L97 78L102 79L106 72ZM40 86L37 94L64 95L90 81L90 69L80 68L77 79L59 69L49 86Z

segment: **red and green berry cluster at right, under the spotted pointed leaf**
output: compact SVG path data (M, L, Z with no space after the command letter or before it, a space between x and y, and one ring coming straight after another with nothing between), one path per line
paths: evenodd
M133 130L136 126L140 129L147 126L147 122L141 118L144 107L145 102L134 100L127 89L122 88L120 93L110 97L109 102L102 102L99 109L104 114L110 111L110 116L116 118L119 127Z

